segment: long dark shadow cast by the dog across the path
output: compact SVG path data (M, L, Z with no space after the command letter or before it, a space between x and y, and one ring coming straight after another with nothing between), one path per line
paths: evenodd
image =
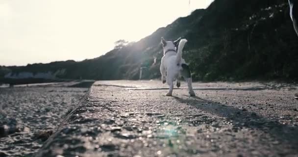
M233 125L239 128L250 128L251 130L263 131L271 136L275 141L282 144L289 144L295 147L298 152L298 126L289 126L281 124L279 121L258 115L255 112L239 109L233 105L224 105L210 100L199 98L198 96L184 98L173 96L180 103L187 104L206 111L207 113L225 117L232 120ZM293 117L292 117L293 118Z

